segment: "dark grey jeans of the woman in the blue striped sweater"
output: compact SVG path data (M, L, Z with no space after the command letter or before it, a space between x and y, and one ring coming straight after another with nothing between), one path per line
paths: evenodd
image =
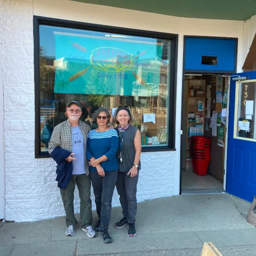
M100 229L109 229L112 197L117 183L118 171L105 172L105 177L103 178L98 172L90 172L90 176L97 214L99 219L101 219Z

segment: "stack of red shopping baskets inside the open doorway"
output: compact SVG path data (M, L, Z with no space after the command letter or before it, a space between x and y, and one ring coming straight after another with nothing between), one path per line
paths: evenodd
M190 144L190 156L193 170L197 175L206 175L210 163L211 138L204 136L192 136Z

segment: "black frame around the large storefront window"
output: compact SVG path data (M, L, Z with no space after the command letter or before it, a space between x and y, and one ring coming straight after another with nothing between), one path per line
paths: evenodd
M169 74L169 124L168 124L168 144L167 146L150 146L142 147L142 152L157 151L175 151L175 117L176 117L176 81L177 81L177 51L178 51L178 35L162 32L154 32L148 30L138 30L124 27L112 27L91 23L83 23L71 20L63 20L46 17L33 17L33 33L34 33L34 76L35 76L35 158L50 157L48 152L41 152L40 139L40 35L39 26L55 26L67 27L75 29L84 29L98 32L122 34L128 36L151 37L156 39L172 40L170 56L170 74Z

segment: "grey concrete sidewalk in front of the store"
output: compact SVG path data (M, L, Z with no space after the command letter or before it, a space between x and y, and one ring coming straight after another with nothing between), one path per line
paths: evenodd
M223 256L255 256L256 228L244 218L249 207L249 202L228 194L139 203L134 238L127 236L127 227L114 227L122 217L121 209L114 208L112 244L104 244L99 234L88 238L80 227L73 237L65 236L64 217L0 223L0 256L201 256L203 242L213 242ZM93 219L98 220L95 212Z

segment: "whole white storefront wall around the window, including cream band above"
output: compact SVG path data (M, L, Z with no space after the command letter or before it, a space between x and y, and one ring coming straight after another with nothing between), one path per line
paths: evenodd
M177 151L142 154L137 195L138 201L144 201L179 194L183 35L238 37L239 69L242 65L243 22L177 18L68 0L4 2L1 20L6 219L28 221L64 215L55 182L55 163L50 158L35 159L34 155L33 15L179 34L175 131ZM78 212L77 191L74 205ZM113 205L119 205L116 192Z

